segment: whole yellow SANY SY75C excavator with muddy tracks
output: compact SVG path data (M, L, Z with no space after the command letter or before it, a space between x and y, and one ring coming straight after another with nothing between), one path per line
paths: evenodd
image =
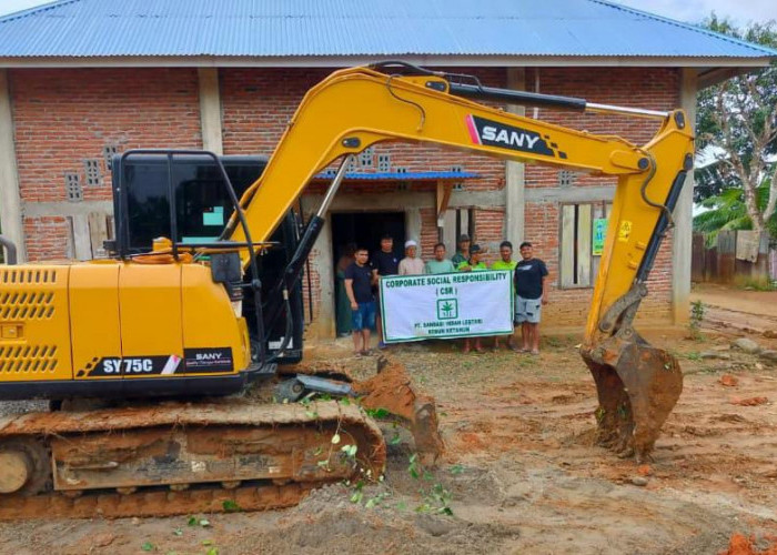
M477 101L648 118L658 130L638 147ZM360 404L397 415L418 450L438 455L434 403L413 392L395 362L361 383L343 373L322 376L304 363L289 377L278 366L299 362L292 304L347 161L391 141L617 178L582 354L598 391L599 442L646 457L679 397L682 373L633 321L692 169L685 113L488 88L471 75L384 62L336 71L312 88L240 199L213 154L130 151L114 160L109 258L14 264L13 245L3 240L0 398L49 398L59 410L0 418L0 518L291 505L323 483L383 472L376 413ZM142 189L149 181L137 157L164 168L164 199ZM215 239L196 232L181 239L188 200L173 174L186 157L206 158L223 178L230 204L208 216L222 219ZM337 160L317 213L275 280L263 283L272 253L283 249L273 232L305 185ZM131 226L160 214L169 218L169 238L137 249ZM280 339L270 341L281 321ZM289 379L273 389L281 373ZM249 395L235 395L251 383ZM310 392L354 401L310 402ZM286 402L301 397L307 402Z

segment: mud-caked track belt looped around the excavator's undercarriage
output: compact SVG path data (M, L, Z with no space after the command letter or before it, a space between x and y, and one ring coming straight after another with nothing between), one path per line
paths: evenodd
M115 433L122 430L186 425L276 426L316 425L341 422L359 426L369 445L362 445L362 466L377 477L385 467L385 442L377 425L357 406L331 402L299 404L252 404L244 400L219 400L208 404L161 403L88 412L30 413L0 418L0 440L46 437L77 433ZM224 490L218 484L196 484L191 490L171 492L167 487L139 488L123 495L109 491L84 490L71 498L61 492L33 496L0 495L0 519L26 519L46 516L63 518L167 516L194 513L219 513L234 509L264 511L297 504L311 490L329 483L290 483L285 485L241 485Z

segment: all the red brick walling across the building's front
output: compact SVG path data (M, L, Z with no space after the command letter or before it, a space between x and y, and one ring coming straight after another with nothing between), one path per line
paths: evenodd
M484 84L506 84L504 69L463 70L477 73ZM305 91L327 70L317 69L236 69L220 70L223 145L226 154L271 154L289 119ZM666 110L678 104L678 71L634 68L543 68L527 70L527 89L544 93L583 97L592 102ZM10 82L13 102L14 138L19 161L22 200L62 201L64 172L79 172L82 160L102 159L107 142L122 150L145 148L200 148L200 114L196 71L194 69L61 69L12 70ZM533 109L527 110L532 115ZM642 143L654 133L649 120L581 115L539 110L539 118L565 127L595 133L617 133ZM375 154L389 152L392 167L407 171L447 170L461 165L481 179L465 183L467 191L494 191L504 186L504 162L430 145L380 144ZM103 185L83 184L85 200L110 199L110 178L104 165ZM529 165L526 186L556 186L555 169ZM614 184L581 175L578 186ZM322 186L314 190L320 192ZM359 194L364 208L379 208L381 195L398 189L396 184L349 184L341 194ZM413 184L411 191L431 191L433 185ZM536 253L551 271L554 290L547 307L547 322L581 324L587 313L591 290L555 289L558 281L558 204L527 203L524 238L506 238L517 243L531 240ZM475 209L475 239L490 248L488 262L497 258L503 239L503 209ZM422 256L432 255L437 240L434 211L421 210ZM64 256L70 222L62 216L28 218L28 252L32 260ZM669 314L670 239L662 249L649 286L652 295L643 314L665 317ZM516 253L517 258L517 253ZM314 274L314 312L320 310L319 275Z

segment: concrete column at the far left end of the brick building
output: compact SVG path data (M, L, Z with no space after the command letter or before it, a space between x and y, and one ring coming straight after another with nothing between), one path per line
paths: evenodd
M0 225L17 245L19 262L27 260L22 223L19 171L13 142L13 113L8 71L0 69Z

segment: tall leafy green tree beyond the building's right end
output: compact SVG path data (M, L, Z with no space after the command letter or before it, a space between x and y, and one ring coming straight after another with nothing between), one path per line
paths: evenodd
M737 29L713 14L705 26L777 49L774 21ZM700 214L694 226L768 229L777 208L777 64L704 89L697 108L697 147L712 145L716 161L696 170L694 200L717 213Z

